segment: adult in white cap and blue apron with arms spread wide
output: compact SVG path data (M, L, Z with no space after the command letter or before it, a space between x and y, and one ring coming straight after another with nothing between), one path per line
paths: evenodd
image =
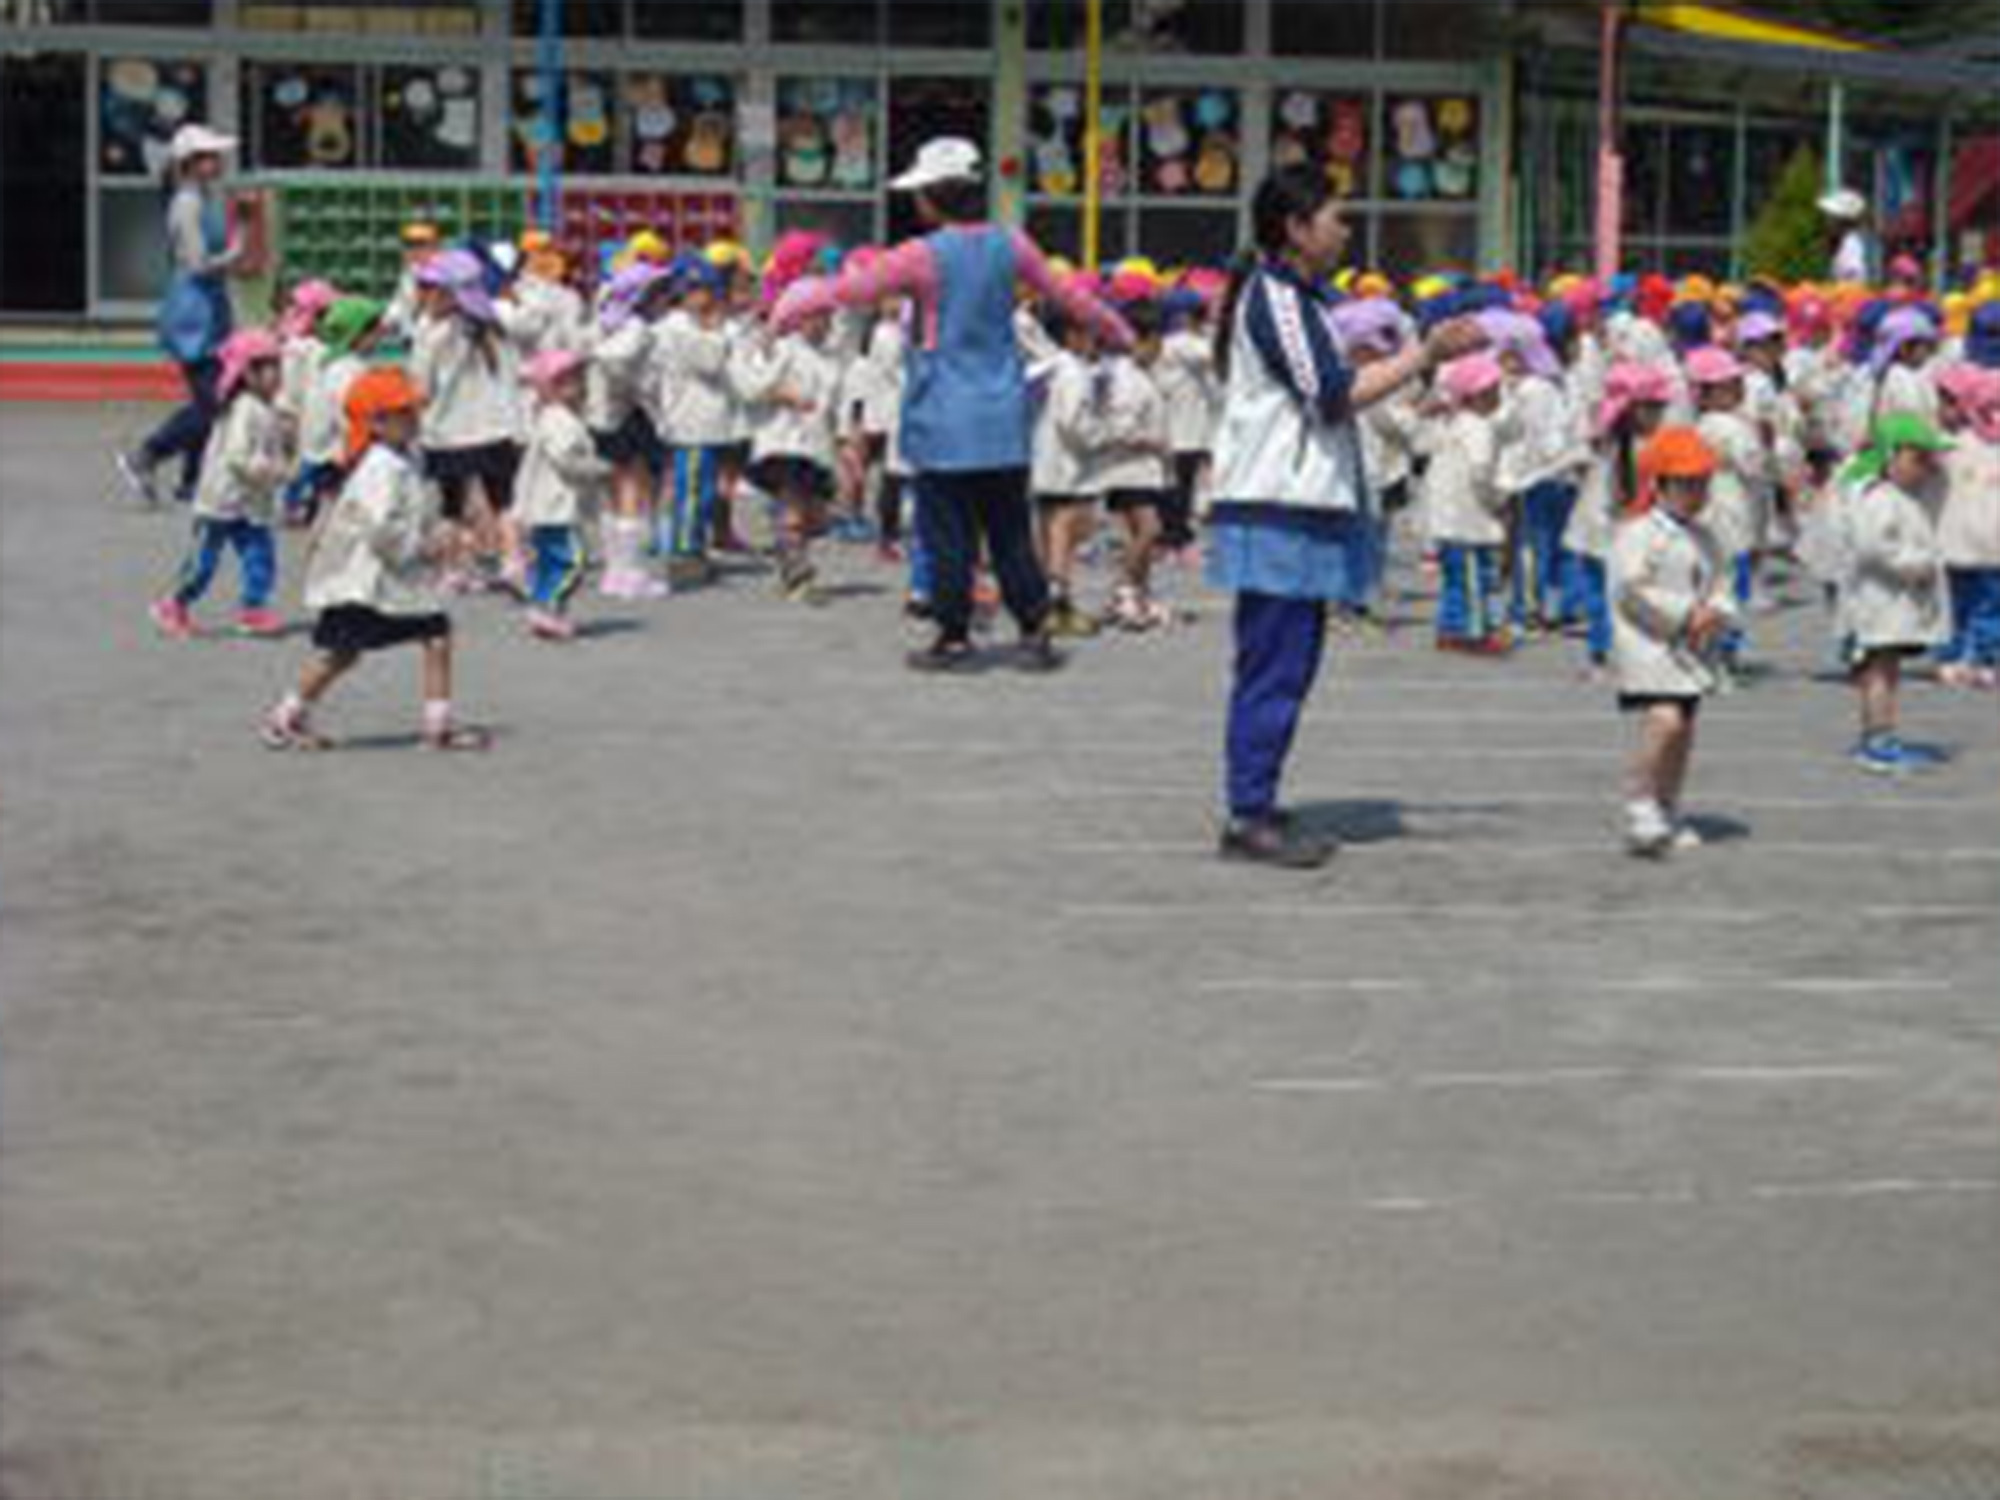
M1132 330L1088 290L1058 280L1028 236L986 222L980 148L970 140L924 142L890 188L914 194L930 232L852 262L838 280L798 282L780 298L774 324L786 332L832 306L876 306L894 294L914 300L900 450L914 472L938 634L912 652L910 666L950 672L972 660L972 578L984 540L1026 664L1054 668L1048 582L1028 514L1030 406L1014 332L1016 288L1052 300L1116 348L1130 346Z

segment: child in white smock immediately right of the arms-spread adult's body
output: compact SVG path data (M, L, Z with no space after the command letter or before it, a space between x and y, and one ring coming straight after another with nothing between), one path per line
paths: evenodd
M1036 544L1048 574L1048 628L1068 640L1098 634L1076 608L1076 554L1098 524L1098 340L1088 324L1050 308L1056 352L1032 374L1042 388L1034 414L1030 490Z

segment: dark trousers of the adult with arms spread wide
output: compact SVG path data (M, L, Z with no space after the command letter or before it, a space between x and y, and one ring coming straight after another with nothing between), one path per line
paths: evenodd
M944 640L972 638L972 574L980 540L1008 614L1032 634L1048 616L1048 580L1034 556L1028 470L980 468L916 476L916 526L930 554L930 618Z

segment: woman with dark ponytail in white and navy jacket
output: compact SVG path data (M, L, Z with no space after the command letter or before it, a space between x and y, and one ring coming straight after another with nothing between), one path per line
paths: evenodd
M1222 854L1312 870L1334 844L1278 808L1278 782L1320 672L1326 606L1372 568L1374 500L1356 416L1486 336L1450 320L1348 368L1324 290L1348 226L1326 174L1266 178L1252 220L1256 248L1230 280L1216 346L1224 396L1208 582L1236 596Z

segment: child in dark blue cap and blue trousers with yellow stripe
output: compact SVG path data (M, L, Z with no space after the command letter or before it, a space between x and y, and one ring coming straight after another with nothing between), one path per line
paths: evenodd
M680 306L660 322L660 436L670 450L662 494L666 512L660 550L670 584L700 584L710 576L708 536L716 514L716 484L734 440L730 358L738 348L722 302L724 276L702 256L674 262Z

